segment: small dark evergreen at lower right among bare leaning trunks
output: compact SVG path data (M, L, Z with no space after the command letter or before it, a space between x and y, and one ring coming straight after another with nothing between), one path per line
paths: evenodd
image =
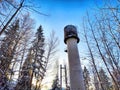
M105 71L101 68L99 71L99 75L101 78L101 82L103 84L104 90L109 90L110 89L110 82L109 82L109 78L106 75Z

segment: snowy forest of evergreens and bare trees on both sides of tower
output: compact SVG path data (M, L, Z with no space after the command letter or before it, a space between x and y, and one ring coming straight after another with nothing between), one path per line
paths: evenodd
M88 62L82 68L86 90L120 90L120 1L103 2L94 13L87 11L78 30L86 45L80 59ZM60 85L56 31L45 37L41 24L35 29L30 12L48 16L38 8L32 0L0 0L0 90L70 90L68 68L63 75L68 81ZM43 89L48 74L54 78Z

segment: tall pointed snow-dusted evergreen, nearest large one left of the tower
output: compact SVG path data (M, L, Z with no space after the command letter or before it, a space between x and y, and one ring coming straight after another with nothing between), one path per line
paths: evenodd
M42 26L40 25L40 27L37 29L37 33L36 33L36 38L34 40L34 45L33 45L33 52L34 52L34 63L33 63L33 67L34 67L34 75L36 78L36 87L35 90L37 90L38 88L40 88L40 84L42 82L42 79L44 77L45 74L45 64L46 64L46 59L44 58L43 54L44 54L44 35L43 35L43 29ZM37 85L39 84L39 87L37 87Z

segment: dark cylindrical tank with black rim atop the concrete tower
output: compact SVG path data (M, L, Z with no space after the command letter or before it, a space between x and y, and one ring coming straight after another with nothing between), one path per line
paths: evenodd
M77 34L77 28L74 25L67 25L64 28L64 42L66 44L67 39L75 38L77 39L77 43L79 42L79 37Z

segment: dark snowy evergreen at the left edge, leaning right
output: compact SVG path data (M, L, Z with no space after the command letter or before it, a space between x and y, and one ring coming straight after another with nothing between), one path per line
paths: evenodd
M3 76L7 78L9 67L16 50L15 41L18 35L18 30L19 20L13 23L5 32L5 37L2 40L3 42L0 47L0 78Z

